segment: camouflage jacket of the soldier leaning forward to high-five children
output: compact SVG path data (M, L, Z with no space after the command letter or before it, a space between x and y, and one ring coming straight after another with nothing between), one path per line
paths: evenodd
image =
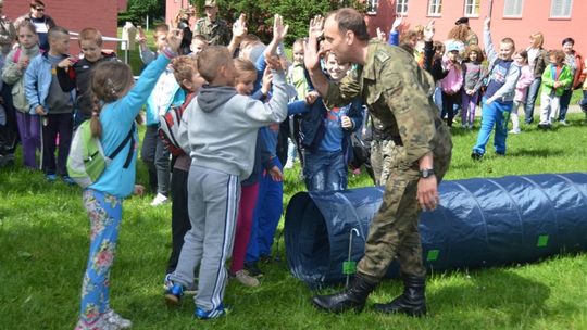
M380 127L385 127L386 136L404 147L401 161L412 164L438 143L445 143L436 134L441 120L430 98L434 86L432 76L407 51L372 40L365 64L357 66L340 82L329 82L324 101L332 107L360 97Z

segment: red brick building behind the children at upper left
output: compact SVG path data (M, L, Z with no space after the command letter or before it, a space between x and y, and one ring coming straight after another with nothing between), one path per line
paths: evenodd
M42 0L47 15L60 26L78 33L85 27L96 27L103 36L117 36L117 16L126 10L126 0ZM4 15L11 21L29 12L28 0L4 0ZM115 42L104 42L104 48L116 49ZM77 42L71 43L71 53L79 52Z

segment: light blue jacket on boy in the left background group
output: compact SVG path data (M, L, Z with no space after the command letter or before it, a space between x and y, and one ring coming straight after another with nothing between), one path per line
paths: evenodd
M66 59L67 55L63 55ZM45 111L50 113L51 110L47 109L45 101L49 96L49 89L51 87L52 67L48 59L48 53L38 54L30 61L25 73L25 94L28 102L29 113L36 114L35 109L42 105ZM70 92L72 100L75 100L75 89Z

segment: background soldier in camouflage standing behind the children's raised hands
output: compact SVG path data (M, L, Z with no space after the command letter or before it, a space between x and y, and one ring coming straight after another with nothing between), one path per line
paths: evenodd
M202 35L210 45L227 46L230 41L230 29L226 22L217 17L216 0L205 0L205 17L193 26L193 35Z

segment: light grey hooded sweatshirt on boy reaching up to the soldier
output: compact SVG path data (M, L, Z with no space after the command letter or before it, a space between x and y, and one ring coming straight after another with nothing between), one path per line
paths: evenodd
M233 87L204 86L182 116L179 144L191 156L191 164L245 179L252 172L259 128L286 117L283 72L273 73L268 103L237 94Z

